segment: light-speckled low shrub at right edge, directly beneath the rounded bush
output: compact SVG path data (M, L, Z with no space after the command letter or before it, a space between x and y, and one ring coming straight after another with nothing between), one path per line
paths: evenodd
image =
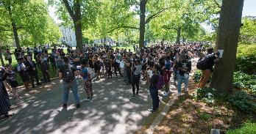
M233 86L235 88L246 88L256 94L256 75L247 75L243 72L234 72Z

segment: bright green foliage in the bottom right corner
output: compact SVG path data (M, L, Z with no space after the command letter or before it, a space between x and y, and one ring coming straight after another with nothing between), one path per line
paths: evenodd
M246 122L241 128L235 130L228 130L227 134L255 134L256 124L251 122Z

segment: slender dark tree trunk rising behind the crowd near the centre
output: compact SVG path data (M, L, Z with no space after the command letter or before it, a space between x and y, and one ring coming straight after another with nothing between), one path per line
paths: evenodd
M146 12L146 0L141 0L140 3L140 40L139 40L139 46L140 48L143 48L144 46L144 40L145 40L145 12Z

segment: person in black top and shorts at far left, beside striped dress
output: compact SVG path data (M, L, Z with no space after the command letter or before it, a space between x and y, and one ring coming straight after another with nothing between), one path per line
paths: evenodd
M13 98L17 98L20 95L17 94L17 86L18 86L18 81L16 78L16 73L13 71L13 67L12 64L6 64L5 67L7 67L7 83L9 83L11 89L12 89L12 93L13 93Z

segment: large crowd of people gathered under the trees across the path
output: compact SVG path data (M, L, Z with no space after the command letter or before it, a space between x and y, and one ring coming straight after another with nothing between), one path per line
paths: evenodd
M138 48L134 50L118 49L115 50L108 45L84 45L82 51L77 48L53 47L49 53L46 47L15 49L11 53L9 49L4 53L5 59L9 64L1 67L0 71L0 113L4 116L10 116L10 100L7 89L11 89L13 98L20 95L16 91L18 81L16 73L21 76L26 91L29 91L29 84L35 88L41 83L51 82L50 70L57 72L63 80L63 108L67 108L69 90L72 90L77 108L80 107L78 94L78 80L82 79L84 83L87 100L93 99L93 78L101 79L106 75L107 78L122 78L127 85L132 86L130 97L140 95L140 81L145 81L149 85L149 93L152 97L152 108L150 112L155 112L159 105L158 90L163 89L163 97L171 94L170 84L177 85L178 96L181 95L182 83L185 84L185 92L188 92L188 80L191 72L191 59L193 57L203 57L203 43L188 42L182 44L159 44L149 47ZM213 54L208 51L208 54ZM12 67L12 54L18 61L17 67ZM213 58L214 59L214 58ZM50 67L51 66L51 67ZM213 66L213 64L210 64ZM212 72L212 67L207 67L204 71L205 78L208 77L208 70ZM38 78L38 71L42 72L43 78ZM52 74L51 74L52 75ZM114 75L114 76L113 76ZM171 76L174 81L170 81ZM28 77L29 76L29 77ZM204 78L202 78L204 79ZM205 84L205 80L200 82L200 87Z

